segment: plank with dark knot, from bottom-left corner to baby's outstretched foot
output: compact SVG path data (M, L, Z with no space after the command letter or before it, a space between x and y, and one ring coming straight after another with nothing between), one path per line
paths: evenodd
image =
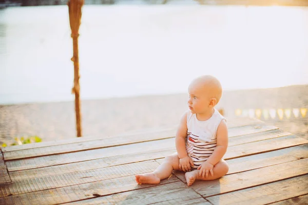
M162 180L160 185L180 181L175 175L169 179ZM22 200L23 204L59 204L70 201L83 200L97 196L105 196L125 191L155 187L157 185L137 185L134 176L125 176L69 187L61 187L37 192L28 192L0 198L0 204L18 204L9 203L9 201ZM202 197L201 197L202 198Z

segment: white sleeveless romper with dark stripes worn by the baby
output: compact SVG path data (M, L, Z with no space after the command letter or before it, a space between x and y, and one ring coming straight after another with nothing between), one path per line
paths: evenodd
M194 161L192 170L196 170L216 148L216 132L221 120L226 120L217 109L206 121L199 121L196 114L187 112L186 151Z

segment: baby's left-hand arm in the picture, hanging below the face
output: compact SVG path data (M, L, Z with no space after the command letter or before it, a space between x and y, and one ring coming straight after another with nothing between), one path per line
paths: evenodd
M185 171L190 170L190 165L193 166L191 158L187 155L186 152L186 142L185 138L187 135L187 112L181 118L180 125L176 134L176 148L178 156L180 158L179 169Z

